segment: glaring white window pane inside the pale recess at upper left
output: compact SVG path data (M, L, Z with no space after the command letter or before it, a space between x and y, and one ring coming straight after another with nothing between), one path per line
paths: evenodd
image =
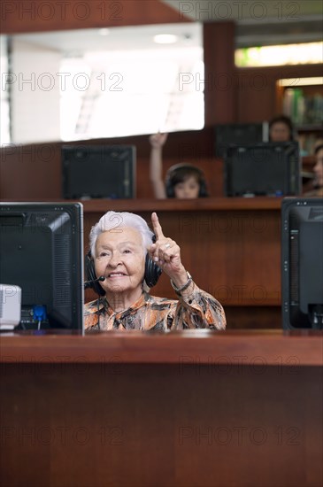
M203 128L204 92L195 82L204 76L202 58L196 47L64 59L62 140Z

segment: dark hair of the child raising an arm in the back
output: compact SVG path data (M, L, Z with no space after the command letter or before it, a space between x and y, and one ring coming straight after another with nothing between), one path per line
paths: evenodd
M207 186L203 171L192 164L175 164L167 171L165 178L165 190L167 197L175 197L174 188L179 182L184 182L189 176L194 176L199 184L198 197L208 197Z

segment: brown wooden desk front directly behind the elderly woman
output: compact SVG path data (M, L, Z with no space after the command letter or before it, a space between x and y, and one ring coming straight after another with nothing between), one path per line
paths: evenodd
M166 236L181 245L197 285L225 306L232 328L281 328L281 198L90 200L84 205L85 248L92 225L108 210L158 213ZM151 294L174 298L162 275ZM87 300L94 294L87 294ZM254 320L254 321L252 321Z

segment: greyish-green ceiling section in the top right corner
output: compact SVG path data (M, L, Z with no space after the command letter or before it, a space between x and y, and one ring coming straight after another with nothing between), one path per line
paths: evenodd
M236 47L321 41L322 0L161 0L191 20L235 20Z

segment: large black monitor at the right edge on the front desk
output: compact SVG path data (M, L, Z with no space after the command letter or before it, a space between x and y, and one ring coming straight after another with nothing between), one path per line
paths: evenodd
M323 329L323 200L281 202L283 329Z

